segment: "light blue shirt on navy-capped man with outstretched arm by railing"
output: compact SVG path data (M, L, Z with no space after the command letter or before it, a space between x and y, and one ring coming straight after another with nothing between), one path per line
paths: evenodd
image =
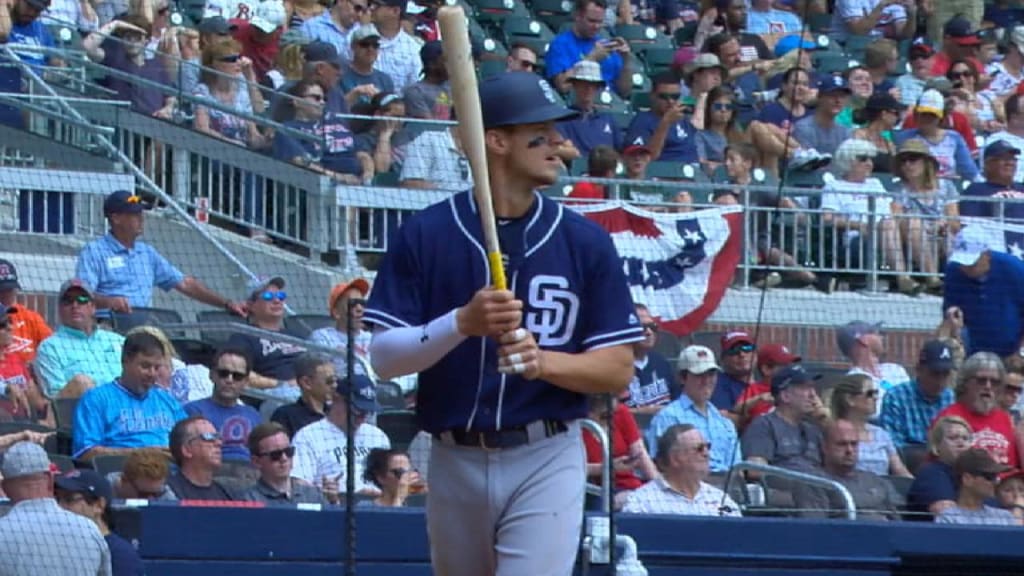
M97 294L128 298L132 306L148 306L154 286L169 291L185 278L153 246L136 240L133 248L125 248L110 234L82 249L75 277L84 280Z

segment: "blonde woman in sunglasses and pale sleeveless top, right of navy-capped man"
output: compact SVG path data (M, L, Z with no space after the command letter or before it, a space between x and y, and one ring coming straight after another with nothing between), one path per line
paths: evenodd
M878 410L879 390L866 374L848 374L836 384L831 396L833 418L848 420L857 428L857 469L878 476L910 478L885 428L867 420Z

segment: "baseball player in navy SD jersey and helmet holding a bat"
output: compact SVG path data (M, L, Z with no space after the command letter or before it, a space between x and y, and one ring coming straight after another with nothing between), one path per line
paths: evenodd
M456 194L403 223L364 320L381 378L420 373L435 574L565 576L584 395L629 384L643 331L608 235L535 190L557 178L555 122L574 113L526 72L484 80L480 101L509 289L488 287L476 204Z

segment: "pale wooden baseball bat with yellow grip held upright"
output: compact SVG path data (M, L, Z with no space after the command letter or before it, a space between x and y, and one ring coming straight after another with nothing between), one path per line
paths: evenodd
M462 6L442 6L437 11L444 60L452 84L452 99L459 118L462 148L466 151L469 167L473 172L473 198L480 210L483 242L490 262L493 285L505 290L505 266L498 244L495 207L490 200L490 177L487 171L486 148L483 143L483 114L480 112L480 94L476 85L473 51L469 43L469 27Z

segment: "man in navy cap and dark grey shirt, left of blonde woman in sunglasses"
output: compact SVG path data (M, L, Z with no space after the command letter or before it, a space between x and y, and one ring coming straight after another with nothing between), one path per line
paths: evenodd
M815 389L820 378L800 364L791 364L772 375L775 410L754 418L743 431L748 461L805 472L818 469L821 429L814 420L827 415Z

